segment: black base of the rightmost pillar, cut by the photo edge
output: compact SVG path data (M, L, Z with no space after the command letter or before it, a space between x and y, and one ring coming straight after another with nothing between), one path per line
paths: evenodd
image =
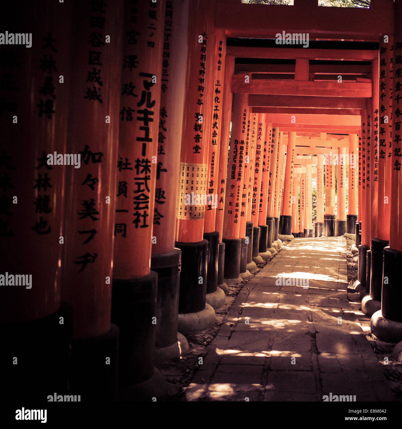
M402 322L402 251L384 248L383 272L381 313L386 319Z

